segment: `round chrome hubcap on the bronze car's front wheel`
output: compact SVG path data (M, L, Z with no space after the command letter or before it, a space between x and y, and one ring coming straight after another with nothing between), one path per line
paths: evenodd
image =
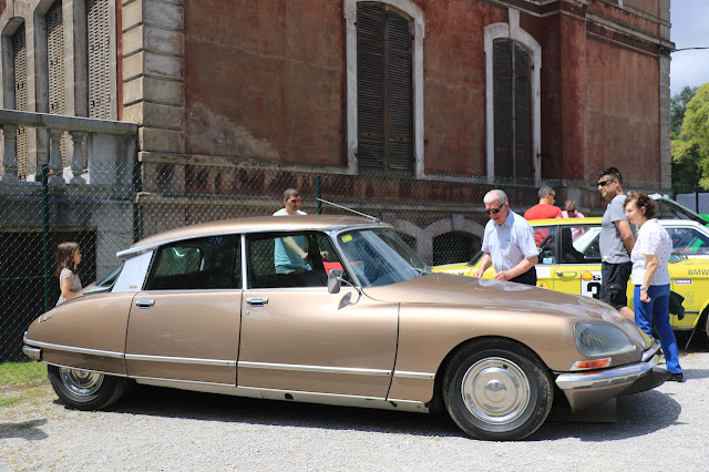
M479 360L467 369L461 387L467 410L489 424L510 423L530 404L530 381L520 366L508 359Z

